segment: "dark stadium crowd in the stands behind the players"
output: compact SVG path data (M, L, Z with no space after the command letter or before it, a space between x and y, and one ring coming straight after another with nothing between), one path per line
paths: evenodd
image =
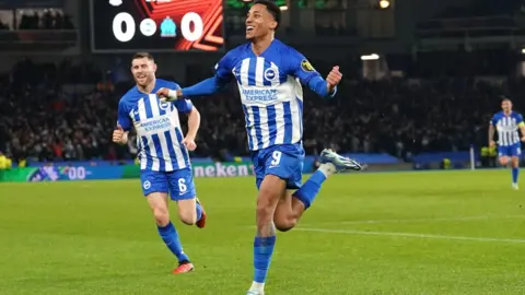
M62 87L80 81L98 84ZM15 161L132 158L135 140L128 146L109 142L118 99L131 85L112 84L89 63L63 61L56 67L19 62L0 79L0 152ZM329 146L340 152L386 152L406 157L485 144L490 114L500 106L499 96L523 95L525 88L520 85L494 86L474 79L345 80L332 99L305 91L306 153L317 154ZM214 98L194 99L202 114L195 156L248 154L238 101L234 85ZM520 109L520 102L515 104Z

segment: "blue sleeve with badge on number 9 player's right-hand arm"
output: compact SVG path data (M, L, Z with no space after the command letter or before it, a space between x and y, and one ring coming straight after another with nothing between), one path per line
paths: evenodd
M300 52L290 49L289 51L289 67L291 75L299 78L301 83L307 85L313 92L322 97L332 97L336 94L336 90L332 93L328 93L328 84L320 76L312 63Z

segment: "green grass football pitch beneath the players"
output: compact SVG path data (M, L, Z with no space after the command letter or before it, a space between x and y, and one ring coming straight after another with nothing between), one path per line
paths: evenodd
M209 219L175 223L183 275L138 180L0 184L0 294L245 294L254 179L196 182ZM525 294L524 200L510 170L336 175L278 234L266 292Z

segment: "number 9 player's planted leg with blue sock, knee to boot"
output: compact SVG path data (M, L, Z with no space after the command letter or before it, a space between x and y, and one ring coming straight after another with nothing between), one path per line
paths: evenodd
M285 189L285 181L275 175L267 175L260 184L256 210L257 234L254 239L254 282L248 294L265 292L266 276L276 245L273 213Z

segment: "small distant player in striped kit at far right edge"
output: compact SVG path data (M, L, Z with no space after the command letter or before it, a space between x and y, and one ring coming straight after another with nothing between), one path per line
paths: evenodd
M494 114L489 126L489 145L494 146L494 131L498 131L498 156L500 164L506 166L509 160L512 165L512 187L517 187L517 176L520 174L520 156L522 154L522 143L525 141L525 123L523 116L512 110L512 102L504 98L501 102L502 111ZM517 133L522 131L522 138ZM520 141L521 140L521 141Z

